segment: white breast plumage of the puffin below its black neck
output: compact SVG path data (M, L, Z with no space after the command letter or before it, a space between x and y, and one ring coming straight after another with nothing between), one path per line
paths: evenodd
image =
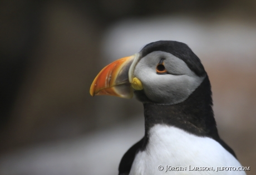
M163 171L157 167L163 166ZM186 171L167 171L166 166L186 167ZM214 171L189 171L213 167ZM198 137L182 129L156 124L150 129L145 151L136 154L130 175L156 174L245 174L243 171L217 171L217 167L241 167L218 142ZM170 168L169 168L170 169Z

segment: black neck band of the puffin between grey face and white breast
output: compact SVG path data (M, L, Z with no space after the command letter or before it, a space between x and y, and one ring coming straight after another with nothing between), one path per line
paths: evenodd
M196 136L210 137L219 141L211 99L208 76L184 102L174 105L144 103L145 146L149 129L155 124L175 126Z

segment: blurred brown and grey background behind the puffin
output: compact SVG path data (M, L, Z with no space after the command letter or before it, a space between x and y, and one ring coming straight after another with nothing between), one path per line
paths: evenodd
M142 104L90 85L158 40L201 59L219 134L255 174L255 20L254 0L1 0L0 174L117 174L144 136Z

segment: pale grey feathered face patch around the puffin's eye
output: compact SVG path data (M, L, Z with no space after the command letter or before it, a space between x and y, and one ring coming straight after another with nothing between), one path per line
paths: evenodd
M161 59L167 74L156 73ZM142 82L147 98L159 104L185 101L205 78L196 76L181 59L162 51L151 52L141 58L134 69L134 77Z

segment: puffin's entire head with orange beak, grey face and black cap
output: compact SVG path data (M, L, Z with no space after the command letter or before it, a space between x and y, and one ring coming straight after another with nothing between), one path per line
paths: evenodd
M122 98L135 94L142 103L177 104L206 76L200 59L186 44L157 41L103 68L92 82L90 94Z

